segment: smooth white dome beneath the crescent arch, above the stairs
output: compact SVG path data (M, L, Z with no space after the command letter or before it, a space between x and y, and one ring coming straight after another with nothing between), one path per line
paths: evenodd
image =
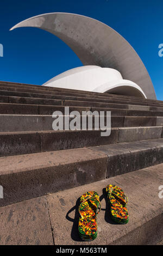
M86 90L98 93L117 93L146 98L143 90L134 82L123 80L119 71L100 66L80 66L63 72L43 86Z

